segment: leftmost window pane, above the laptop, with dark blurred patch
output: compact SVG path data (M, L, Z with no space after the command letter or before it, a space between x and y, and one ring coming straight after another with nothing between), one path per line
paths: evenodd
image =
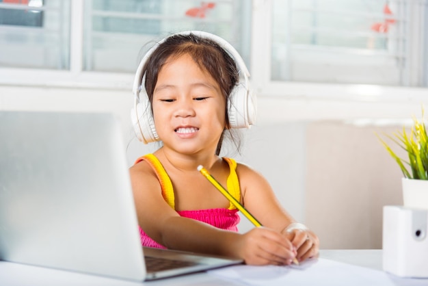
M66 0L0 0L0 66L69 68Z

